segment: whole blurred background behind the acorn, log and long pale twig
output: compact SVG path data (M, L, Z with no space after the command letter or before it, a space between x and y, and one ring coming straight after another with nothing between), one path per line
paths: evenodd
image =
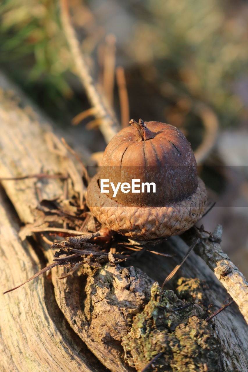
M248 1L68 2L92 76L120 122L167 122L191 142L216 202L201 222L209 231L223 225L222 248L248 276ZM55 0L1 1L0 68L75 147L96 153L106 144L85 113L59 9Z

